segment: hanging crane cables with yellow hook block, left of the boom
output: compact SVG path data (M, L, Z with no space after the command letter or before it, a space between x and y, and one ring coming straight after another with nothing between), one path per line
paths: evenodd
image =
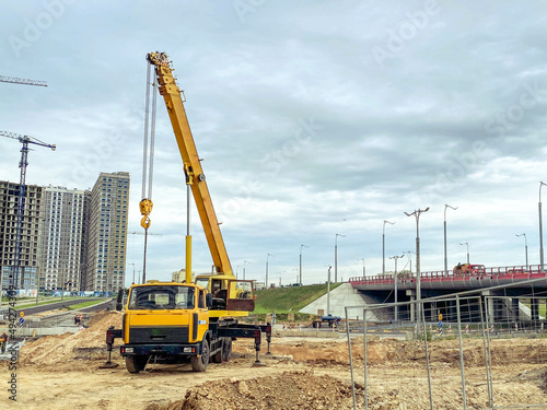
M142 283L147 281L147 245L148 229L150 227L150 213L152 212L152 180L154 175L154 140L155 140L155 110L158 94L154 92L155 83L150 81L152 66L147 70L147 96L144 103L144 143L142 149L142 199L139 203L142 219L141 226L144 229L144 253L142 260ZM150 91L152 90L152 109L150 109ZM150 120L150 121L149 121ZM149 127L150 122L150 127ZM150 128L150 141L149 141ZM147 195L148 177L148 195Z

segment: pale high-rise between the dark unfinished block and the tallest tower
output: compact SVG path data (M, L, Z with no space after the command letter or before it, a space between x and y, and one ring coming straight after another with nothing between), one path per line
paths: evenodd
M84 265L89 192L60 187L42 190L39 289L80 291Z

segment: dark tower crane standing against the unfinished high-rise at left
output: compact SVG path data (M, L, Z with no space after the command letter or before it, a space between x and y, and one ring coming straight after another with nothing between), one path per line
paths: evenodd
M56 147L48 144L37 138L31 136L21 136L14 132L0 131L0 136L19 140L23 144L21 148L21 161L19 167L21 168L21 177L19 180L19 198L18 198L18 220L15 229L15 255L13 258L13 272L11 276L12 289L16 289L19 282L19 263L21 260L21 232L23 230L23 216L25 213L25 179L26 179L26 166L28 165L28 144L35 144L39 147L46 147L55 151ZM24 284L24 274L21 276L21 288Z

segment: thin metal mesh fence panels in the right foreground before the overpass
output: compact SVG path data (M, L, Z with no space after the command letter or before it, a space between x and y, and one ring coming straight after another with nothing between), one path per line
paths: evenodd
M547 303L547 294L529 295L526 296L527 301L532 304ZM467 391L473 388L473 395L476 398L477 395L482 395L481 401L487 403L486 409L528 409L528 408L547 408L547 402L507 402L507 390L504 393L504 401L502 405L497 403L497 395L501 395L499 391L499 385L503 384L500 377L492 371L492 358L491 358L491 340L496 338L542 338L545 337L547 331L545 325L545 312L539 312L537 320L532 320L529 316L526 316L527 306L520 306L519 314L522 319L509 320L505 315L508 308L507 304L500 302L503 297L496 296L458 296L451 295L450 297L437 297L435 303L431 303L431 300L405 302L405 303L391 303L391 304L377 304L370 305L366 307L348 306L345 308L345 317L340 324L341 328L346 331L348 350L349 350L349 365L351 375L351 385L353 393L353 408L357 409L372 409L376 407L371 407L369 402L368 391L371 386L382 386L385 380L375 380L369 375L370 363L368 362L368 344L373 340L372 336L375 331L392 331L407 335L407 339L411 338L423 343L424 356L423 360L418 360L418 367L410 372L410 374L404 374L399 372L397 374L397 383L411 384L416 389L421 389L428 397L428 406L423 406L423 409L435 409L444 408L443 403L443 391L444 386L447 384L446 374L443 374L439 368L434 368L432 372L432 366L430 363L430 349L429 343L433 340L442 339L453 339L457 340L458 345L458 364L461 370L461 387L459 397L461 402L458 403L458 409L466 410L469 408L467 400ZM507 301L511 300L508 297ZM509 303L509 302L508 302ZM450 306L455 311L455 317L453 321L445 323L442 320L442 315L439 312L439 306ZM493 307L492 307L493 306ZM514 307L514 304L512 305ZM375 312L386 311L394 312L395 309L410 309L415 314L415 321L392 321L392 323L379 323L371 321L369 319L363 320L363 317L374 317ZM503 312L502 312L503 311ZM464 314L465 313L465 314ZM514 316L519 316L515 314ZM439 320L426 320L426 318L438 317ZM465 317L465 320L464 320ZM496 318L504 318L502 320L496 320ZM363 339L363 358L364 364L356 364L353 360L353 354L351 352L352 344L351 340L362 337ZM464 355L464 348L466 343L470 343L470 340L475 340L473 345L476 345L476 340L480 341L480 355L481 355L481 366L484 366L484 372L477 374L477 372L466 373L466 367L470 367L470 363L466 365L466 356ZM353 348L354 349L354 348ZM531 347L532 349L532 347ZM409 361L416 358L408 358ZM476 358L475 367L476 367ZM540 349L535 354L537 364L547 363L547 350ZM359 373L357 370L359 368ZM361 372L363 372L361 374ZM452 376L453 380L453 376ZM364 386L364 401L357 401L356 396L356 383ZM473 387L469 387L473 386ZM486 388L477 390L476 386L486 386ZM391 386L392 388L394 386ZM505 387L507 388L507 387ZM517 395L514 395L515 397ZM498 396L499 397L499 396ZM406 408L406 407L400 407ZM410 408L410 407L409 407ZM473 407L475 408L475 407Z

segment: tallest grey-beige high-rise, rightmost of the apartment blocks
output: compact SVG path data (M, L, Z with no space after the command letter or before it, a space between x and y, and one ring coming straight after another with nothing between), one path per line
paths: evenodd
M129 173L101 173L89 201L85 290L124 286L128 206Z

